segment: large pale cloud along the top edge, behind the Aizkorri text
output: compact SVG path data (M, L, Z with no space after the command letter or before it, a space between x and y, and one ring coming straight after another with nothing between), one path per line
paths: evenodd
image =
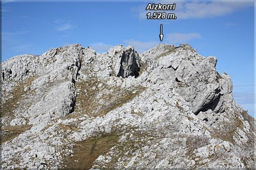
M157 1L157 3L163 3L163 1ZM156 3L156 2L155 2ZM171 4L166 3L166 4ZM228 15L236 10L243 10L248 6L253 6L252 2L234 2L234 1L214 1L214 2L178 2L174 11L177 19L188 18L207 18L207 17L219 17ZM145 6L140 6L139 17L146 19Z

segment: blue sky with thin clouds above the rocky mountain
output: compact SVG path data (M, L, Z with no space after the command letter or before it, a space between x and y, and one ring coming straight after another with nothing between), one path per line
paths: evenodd
M216 56L218 71L232 77L235 100L254 113L253 2L177 2L177 20L147 20L143 2L9 1L1 10L2 60L74 43L97 52L118 44L143 52L161 43L163 24L163 43L190 43L201 55Z

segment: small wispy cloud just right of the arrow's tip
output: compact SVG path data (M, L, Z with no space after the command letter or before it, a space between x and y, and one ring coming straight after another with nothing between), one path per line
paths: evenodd
M195 32L188 33L188 34L175 32L171 34L166 34L165 40L168 41L168 43L175 44L175 43L188 43L193 39L200 39L200 38L202 38L202 36Z

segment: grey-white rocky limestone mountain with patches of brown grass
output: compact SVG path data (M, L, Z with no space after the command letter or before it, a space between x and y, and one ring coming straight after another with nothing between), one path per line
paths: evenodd
M255 169L255 118L216 57L81 45L2 62L1 169Z

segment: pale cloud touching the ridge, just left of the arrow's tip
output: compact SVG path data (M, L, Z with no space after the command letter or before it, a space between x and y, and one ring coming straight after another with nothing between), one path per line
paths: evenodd
M148 42L143 42L143 41L136 41L133 39L125 40L124 41L125 45L131 45L134 47L135 50L137 50L139 53L145 52L149 50L150 48L153 48L160 42L158 41L148 41Z

